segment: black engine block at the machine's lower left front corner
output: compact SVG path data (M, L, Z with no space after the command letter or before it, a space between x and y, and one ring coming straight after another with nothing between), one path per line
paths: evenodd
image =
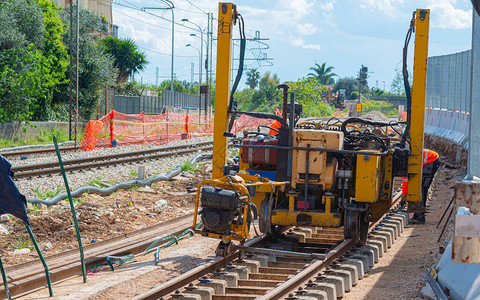
M201 202L203 226L209 231L229 234L235 216L241 214L239 195L232 190L207 186L202 188Z

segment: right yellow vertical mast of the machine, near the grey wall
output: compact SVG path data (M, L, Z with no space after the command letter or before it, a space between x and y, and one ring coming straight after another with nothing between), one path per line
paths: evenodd
M412 109L410 119L410 147L408 159L407 201L420 203L422 199L423 127L425 115L425 87L427 83L429 9L417 9L415 17L415 54L413 62ZM415 206L415 205L413 205Z

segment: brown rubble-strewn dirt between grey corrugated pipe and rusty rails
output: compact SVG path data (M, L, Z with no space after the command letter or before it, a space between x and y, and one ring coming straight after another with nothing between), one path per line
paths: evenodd
M174 181L159 181L147 188L118 190L109 196L80 196L75 211L82 244L110 239L192 212L194 196L186 190L196 187L200 180L193 173L184 172ZM32 231L45 256L78 247L68 200L52 207L31 207L29 211ZM0 254L5 266L38 259L22 221L10 218L0 224L10 232L0 236Z

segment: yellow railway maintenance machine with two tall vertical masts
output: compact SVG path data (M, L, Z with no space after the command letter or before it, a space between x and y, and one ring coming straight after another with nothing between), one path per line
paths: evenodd
M194 228L220 239L217 255L231 242L250 237L258 218L262 234L287 226L344 228L345 238L366 242L369 222L390 209L393 180L408 176L408 212L424 211L421 201L425 84L430 11L413 13L403 51L408 120L377 122L362 118L302 122L302 106L283 84L282 116L239 112L233 93L243 71L244 21L231 3L219 3L212 179L196 191ZM239 71L230 88L233 26L239 26ZM415 34L413 87L406 67ZM275 119L278 129L230 133L241 114ZM264 126L268 127L268 126ZM228 140L240 148L237 165L227 164ZM256 228L255 228L256 229Z

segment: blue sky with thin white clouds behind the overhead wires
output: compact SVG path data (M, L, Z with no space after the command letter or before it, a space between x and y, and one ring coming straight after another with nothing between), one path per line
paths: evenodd
M175 21L179 23L188 18L206 28L204 12L217 16L216 1L173 3ZM395 68L401 67L405 34L416 8L431 9L429 56L471 48L470 0L242 0L235 4L245 19L247 37L260 31L262 38L269 38L265 41L269 49L261 51L273 58L271 66L248 61L247 67L257 68L262 74L276 73L282 82L306 76L315 63L326 62L335 67L334 72L340 77L356 77L363 64L373 72L369 74L369 85L375 86L378 81L378 87L383 89L385 82L389 90ZM171 13L150 11L168 19L165 20L140 10L152 6L165 7L161 1L153 0L116 0L113 4L113 22L119 26L120 37L133 38L150 62L144 72L135 75L137 81L144 83L155 83L157 67L159 81L170 77ZM175 74L180 80L190 81L193 62L198 81L198 52L185 47L200 47L200 40L190 36L195 33L195 27L191 28L175 27ZM411 66L413 39L410 45ZM256 42L247 43L247 57L253 57L258 47ZM235 51L238 53L238 47ZM240 85L245 87L244 83Z

